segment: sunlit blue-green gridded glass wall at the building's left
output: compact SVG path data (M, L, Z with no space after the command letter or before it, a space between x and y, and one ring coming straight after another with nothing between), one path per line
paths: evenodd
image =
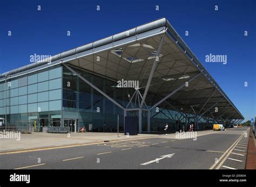
M50 125L53 119L60 121L62 67L10 77L6 82L6 85L5 81L0 83L0 116L5 118L6 110L9 123L30 120L39 123L40 118L50 118Z

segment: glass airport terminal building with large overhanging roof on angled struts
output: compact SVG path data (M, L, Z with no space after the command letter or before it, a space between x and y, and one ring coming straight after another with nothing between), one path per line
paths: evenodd
M39 132L123 131L132 119L139 133L244 119L165 18L0 74L0 118Z

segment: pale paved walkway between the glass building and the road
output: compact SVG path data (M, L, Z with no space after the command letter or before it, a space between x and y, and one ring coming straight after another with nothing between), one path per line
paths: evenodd
M197 136L216 133L215 131L198 131ZM219 132L221 133L221 132ZM169 138L175 139L176 134L158 135L158 134L138 134L126 136L123 133L71 133L71 134L55 134L55 133L32 133L21 134L20 140L17 139L0 139L0 152L9 152L11 150L35 149L43 147L57 147L78 145L92 142L131 140L146 137Z

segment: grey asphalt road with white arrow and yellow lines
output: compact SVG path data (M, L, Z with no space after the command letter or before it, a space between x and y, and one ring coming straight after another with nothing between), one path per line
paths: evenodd
M0 169L244 169L247 130L227 129L195 141L167 135L1 154Z

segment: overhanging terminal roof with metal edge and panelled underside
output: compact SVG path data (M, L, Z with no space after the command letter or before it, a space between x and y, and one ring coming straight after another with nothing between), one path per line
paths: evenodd
M167 37L164 38L146 104L157 103L186 80L200 73L189 83L188 88L182 88L167 100L168 103L163 102L159 106L170 108L171 103L176 110L186 113L190 113L193 106L195 112L200 111L206 117L214 116L214 107L218 107L219 111L215 113L217 116L222 114L223 118L244 119L166 18L52 56L52 64L33 63L4 73L0 78L4 80L6 74L22 75L42 67L67 63L114 81L139 80L140 90L143 90L163 34ZM97 61L98 57L100 61ZM207 109L211 110L206 112Z

